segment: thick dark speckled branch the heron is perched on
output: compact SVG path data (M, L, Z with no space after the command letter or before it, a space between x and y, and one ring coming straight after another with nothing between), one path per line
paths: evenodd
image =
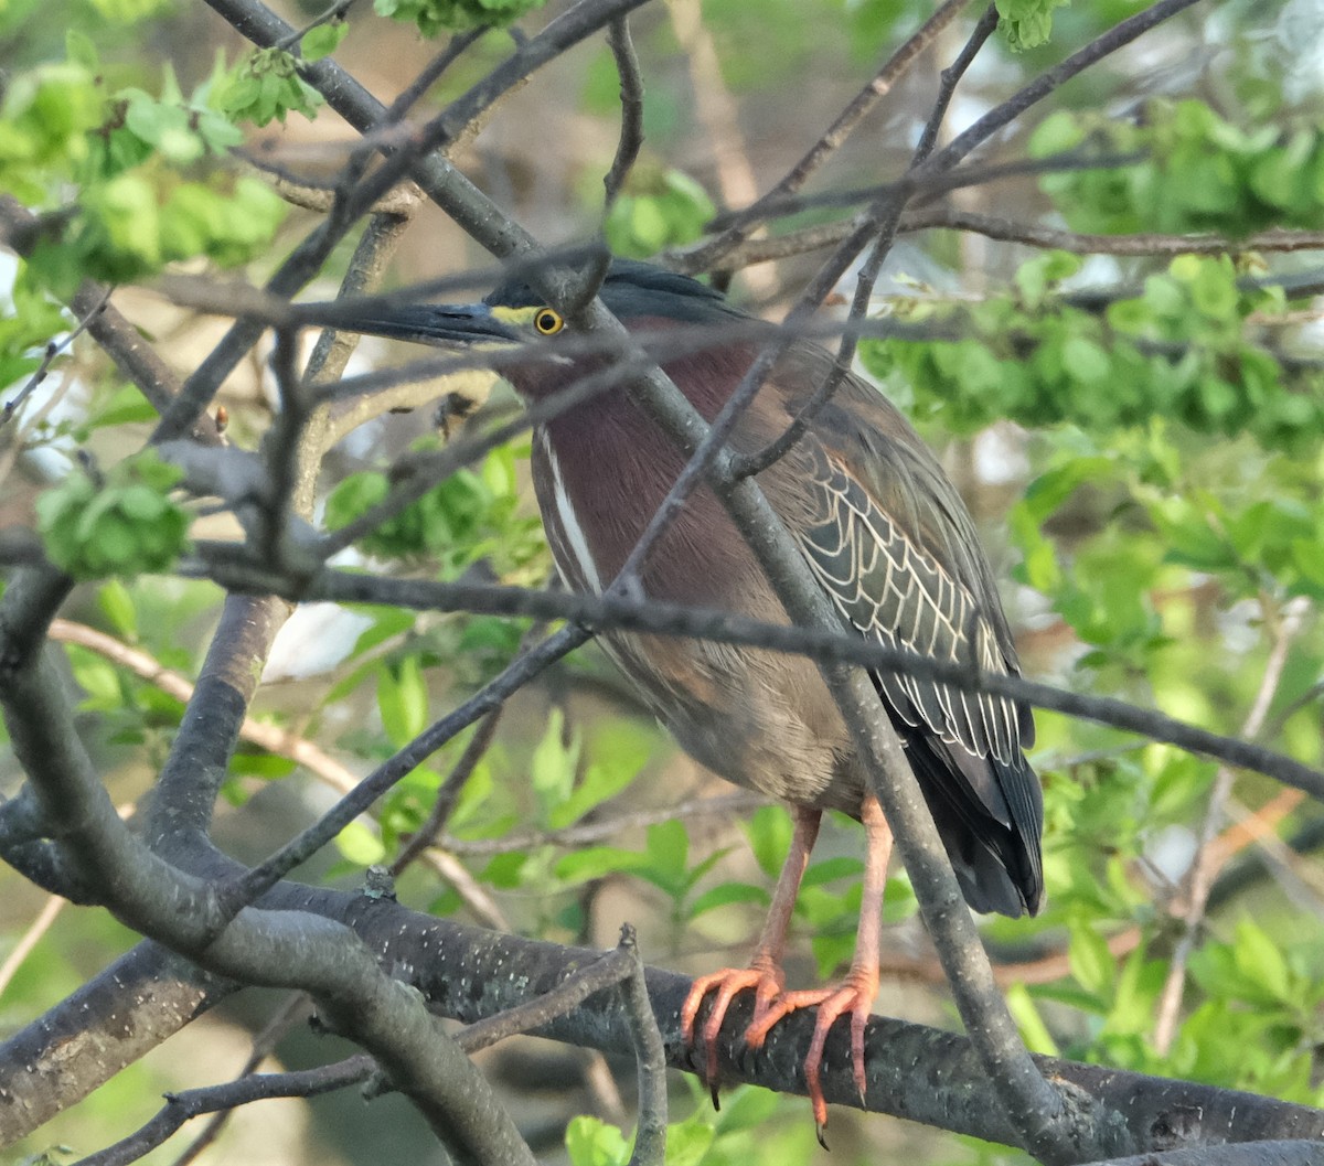
M412 982L441 1015L466 1023L535 1001L564 981L573 967L601 957L600 952L437 920L385 900L289 883L269 892L262 907L318 912L352 926L381 964L409 967ZM77 1083L69 1076L61 1080L87 1089L93 1087L87 1084L93 1075L105 1079L115 1071L99 1064L91 1054L66 1060L70 1048L77 1048L68 1042L81 1039L75 1034L83 1016L105 1018L102 1039L115 1038L105 1047L118 1050L119 1055L134 1047L131 1059L135 1059L197 1011L211 1007L218 998L216 990L199 991L191 979L180 978L184 967L183 960L164 954L154 944L142 944L41 1022L0 1046L0 1065L12 1068L0 1083L5 1091L0 1096L25 1099L21 1105L0 1106L0 1144L21 1137L52 1114L46 1110L41 1117L37 1108L45 1100L42 1095L50 1092L49 1073L68 1075L77 1065L81 1069ZM679 1009L690 987L688 977L649 969L647 985L669 1064L696 1072L698 1065L690 1060L692 1052L679 1035ZM134 987L138 990L131 991ZM801 1061L813 1031L813 1015L788 1016L759 1054L751 1054L739 1036L751 1018L752 1005L737 999L719 1048L723 1077L802 1095ZM140 1039L139 1030L150 1026L155 1039ZM626 1056L633 1052L624 1003L605 994L585 1001L577 1011L540 1030L540 1035ZM1014 1142L1016 1134L1002 1117L988 1073L968 1039L875 1016L866 1030L866 1050L869 1089L862 1105L851 1080L845 1035L829 1039L824 1088L833 1104ZM1102 1065L1053 1057L1035 1060L1045 1073L1084 1089L1120 1116L1123 1126L1115 1154L1229 1140L1324 1137L1324 1112L1308 1106ZM28 1064L33 1065L32 1073L21 1068ZM916 1064L931 1067L931 1072L916 1079L912 1072Z

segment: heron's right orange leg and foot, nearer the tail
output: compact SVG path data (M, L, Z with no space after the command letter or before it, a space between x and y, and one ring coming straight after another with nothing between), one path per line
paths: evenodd
M887 883L887 862L892 854L892 831L883 817L883 809L873 795L865 798L861 807L865 823L865 887L859 904L859 933L855 938L855 956L850 961L846 978L835 986L813 989L810 991L782 993L771 1006L756 1010L753 1023L745 1031L745 1044L759 1048L772 1026L797 1009L817 1005L818 1016L814 1020L814 1035L805 1056L805 1085L813 1104L814 1125L818 1141L826 1147L824 1129L828 1125L828 1102L824 1100L820 1084L824 1044L828 1031L838 1016L850 1014L850 1057L855 1077L855 1088L861 1100L865 1097L865 1023L869 1020L878 994L878 949L883 921L883 888Z

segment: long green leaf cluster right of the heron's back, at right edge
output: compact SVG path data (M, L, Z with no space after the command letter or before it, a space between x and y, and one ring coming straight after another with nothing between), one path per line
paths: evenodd
M922 414L941 409L957 431L1009 420L1103 434L1164 418L1266 449L1317 443L1324 376L1247 339L1253 314L1282 310L1276 292L1245 290L1226 257L1182 255L1100 312L1059 292L1079 267L1075 255L1047 253L1019 269L1013 292L900 302L910 335L862 343L865 367L902 382Z

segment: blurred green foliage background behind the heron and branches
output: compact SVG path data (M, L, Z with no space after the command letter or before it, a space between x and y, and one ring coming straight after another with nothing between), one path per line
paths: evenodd
M436 52L420 33L519 19L527 0L465 5L379 0L305 37L389 101ZM955 127L1143 5L1027 5L967 77ZM1016 8L1016 5L1008 5ZM1046 32L1051 9L1051 36ZM281 7L294 24L316 15ZM532 28L559 5L524 17ZM896 0L671 0L634 20L647 83L645 157L606 220L616 250L650 255L699 237L719 208L767 189L814 140L931 5ZM957 22L816 179L816 191L886 181L904 165L937 83L967 34ZM66 32L68 30L68 32ZM1042 42L1041 42L1042 41ZM440 106L510 49L489 32L429 95ZM147 281L168 263L273 267L315 217L226 161L266 150L334 172L352 132L285 58L252 53L187 0L8 0L0 7L4 120L0 189L68 225L28 258L0 257L0 384L21 382L68 330L77 281ZM899 327L865 341L863 368L941 450L1006 580L1026 672L1246 735L1319 765L1324 635L1324 393L1319 254L1256 249L1258 232L1324 226L1320 136L1324 7L1209 3L1057 93L997 146L1000 160L1066 150L1127 165L1022 175L951 196L963 213L1100 236L1214 233L1222 253L1110 253L1062 234L1045 249L931 230L896 246L876 308ZM506 101L457 163L547 244L601 218L601 175L618 127L610 53L592 41ZM75 191L77 197L70 192ZM775 233L828 222L810 205ZM1027 237L1027 236L1026 236ZM1161 250L1161 249L1153 249ZM1076 253L1079 251L1079 253ZM342 249L312 294L334 294ZM739 273L757 311L789 303L814 257ZM459 229L421 213L399 251L399 285L485 267ZM851 286L843 285L846 295ZM224 322L132 287L115 303L180 371ZM365 341L367 368L400 357ZM230 434L250 445L273 409L254 359L226 384ZM487 409L508 408L495 394ZM86 629L188 676L220 592L169 576L184 536L172 479L143 443L152 410L82 341L0 431L0 525L42 529L49 553L85 578L58 630L82 725L118 802L150 787L181 712L179 694L107 655ZM336 527L387 488L405 450L445 437L392 417L354 434L327 466L322 514ZM79 451L106 467L90 491ZM516 442L438 486L360 541L383 569L539 585L549 559ZM117 476L118 475L118 476ZM146 491L146 492L144 492ZM163 508L164 507L164 508ZM189 511L193 533L211 521ZM162 570L159 574L142 572ZM138 577L127 577L134 576ZM77 626L75 626L77 625ZM81 629L81 630L79 630ZM282 633L256 715L318 741L351 773L391 756L438 711L510 659L527 622L387 609L303 610ZM1324 1104L1317 1047L1324 998L1324 879L1311 851L1321 815L1266 778L1096 724L1039 713L1049 905L989 920L1026 1040L1038 1051ZM467 736L417 769L339 854L303 872L355 885L389 862L432 810ZM0 753L8 790L17 773ZM324 774L322 774L324 778ZM258 859L331 798L324 781L270 746L236 757L221 843ZM789 839L786 814L755 809L645 719L592 647L511 703L465 785L440 852L401 880L420 909L560 942L610 945L633 921L650 962L710 970L739 961ZM793 975L825 977L854 942L861 835L839 819L797 907ZM1207 917L1189 933L1189 874L1206 855ZM0 1028L13 1031L127 950L134 936L95 911L50 916L12 872L0 901ZM904 875L888 888L890 975L876 1009L953 1024ZM23 942L46 913L36 945ZM1173 956L1180 954L1174 965ZM1177 967L1181 1007L1161 1019ZM167 1088L237 1072L278 999L245 993L132 1065L17 1147L64 1161L140 1125ZM1177 1023L1170 1023L1176 1019ZM295 1027L266 1064L335 1055ZM485 1063L548 1161L624 1161L630 1065L534 1040ZM622 1100L621 1092L625 1099ZM580 1114L576 1117L576 1114ZM669 1161L692 1166L828 1161L802 1101L741 1091L714 1113L675 1081ZM573 1121L572 1121L573 1118ZM605 1124L602 1124L605 1122ZM179 1159L191 1136L148 1159ZM71 1147L69 1154L53 1147ZM965 1140L833 1114L834 1163L992 1163L1018 1155ZM441 1161L399 1099L356 1095L265 1102L238 1114L203 1161Z

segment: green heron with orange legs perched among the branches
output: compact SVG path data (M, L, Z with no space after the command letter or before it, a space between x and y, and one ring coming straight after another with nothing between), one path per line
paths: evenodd
M647 263L613 262L598 294L632 331L737 326L741 339L661 359L711 421L755 359L759 340L751 337L751 318L714 289ZM347 327L426 344L518 348L526 356L503 364L503 375L528 401L555 394L602 365L602 357L557 355L565 322L520 281L498 287L481 304L388 308ZM749 453L775 439L830 367L824 348L794 343L741 417L731 445ZM534 487L569 586L601 592L616 577L685 461L624 390L575 405L535 431ZM1017 671L1012 631L960 495L873 385L847 376L808 433L757 482L845 625L879 643L972 671ZM658 600L789 622L722 503L704 488L690 496L654 545L639 582ZM824 1043L845 1014L851 1018L851 1064L863 1096L863 1030L878 990L892 844L846 725L817 667L802 656L622 633L605 633L602 642L692 757L792 807L790 851L749 966L696 979L681 1020L692 1047L700 1006L714 997L702 1030L711 1083L718 1034L736 993L755 991L745 1031L753 1048L788 1012L817 1006L805 1079L821 1130ZM1034 739L1030 709L920 676L876 672L873 680L967 901L981 912L1035 912L1043 897L1043 810L1038 780L1022 753ZM855 956L839 985L786 991L786 932L824 810L842 810L866 830Z

